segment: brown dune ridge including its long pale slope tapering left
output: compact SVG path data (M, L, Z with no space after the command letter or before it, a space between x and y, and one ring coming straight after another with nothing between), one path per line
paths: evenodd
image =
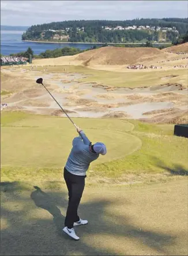
M88 50L74 56L34 60L39 65L130 65L147 61L166 59L169 53L152 47L115 47L106 46Z

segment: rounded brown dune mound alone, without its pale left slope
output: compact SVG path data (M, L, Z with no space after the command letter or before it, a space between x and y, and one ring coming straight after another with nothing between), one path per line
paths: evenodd
M76 60L84 61L84 65L126 65L150 61L156 57L165 58L166 53L151 47L115 47L107 46L88 50L76 56Z

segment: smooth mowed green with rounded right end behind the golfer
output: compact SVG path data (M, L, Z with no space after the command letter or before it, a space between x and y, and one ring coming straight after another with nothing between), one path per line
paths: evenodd
M97 163L117 159L141 147L141 140L127 133L133 129L128 122L88 118L74 119L74 122L93 143L102 141L107 145L108 154L100 156ZM73 138L78 136L66 118L28 115L26 119L9 122L5 116L3 123L2 116L2 125L2 167L61 168L72 149Z

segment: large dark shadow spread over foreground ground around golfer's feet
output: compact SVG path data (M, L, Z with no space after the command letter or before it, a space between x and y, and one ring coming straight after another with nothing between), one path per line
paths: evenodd
M168 246L174 244L175 237L147 229L140 231L126 214L107 211L111 205L114 209L119 204L129 206L125 198L97 198L89 203L81 203L79 214L89 220L89 225L76 227L76 233L81 237L76 242L64 233L59 236L65 220L59 208L66 211L67 193L55 190L46 193L35 186L32 193L23 187L22 193L15 190L2 194L1 218L6 219L7 224L2 226L1 255L119 255L116 247L118 239L118 249L123 246L122 255L127 255L125 243L128 239L133 239L136 245L144 244L148 253L155 250L156 254L167 255ZM7 207L9 203L10 207ZM45 210L44 214L40 209ZM123 240L126 237L127 240ZM114 244L113 248L111 244ZM138 251L138 254L141 252Z

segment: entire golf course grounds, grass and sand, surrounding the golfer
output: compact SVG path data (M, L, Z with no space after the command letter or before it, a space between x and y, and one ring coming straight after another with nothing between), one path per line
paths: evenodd
M127 70L129 56L119 49L110 64L118 47L104 48L1 67L1 255L188 254L187 138L174 136L188 122L187 69L173 68L187 60L143 48L136 64L171 61ZM77 242L62 228L63 167L78 134L39 77L89 140L107 147L87 171L78 213L88 225L75 228Z

